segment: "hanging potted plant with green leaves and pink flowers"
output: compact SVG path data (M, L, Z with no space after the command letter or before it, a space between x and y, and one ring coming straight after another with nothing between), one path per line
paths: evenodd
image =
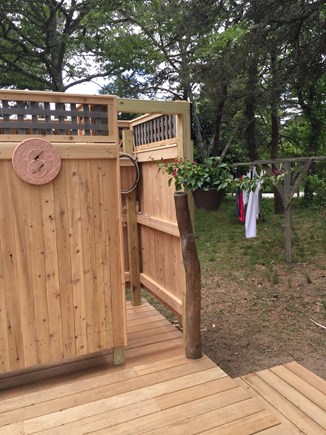
M218 210L225 189L233 175L220 157L208 157L202 162L178 159L160 163L159 169L170 175L169 185L174 181L176 191L193 192L195 204L204 210Z

